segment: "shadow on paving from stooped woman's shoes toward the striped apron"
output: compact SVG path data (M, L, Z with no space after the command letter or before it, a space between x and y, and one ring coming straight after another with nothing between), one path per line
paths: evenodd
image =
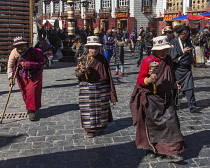
M69 111L76 111L79 110L79 104L65 104L65 105L58 105L58 106L51 106L45 109L40 109L38 113L38 120L39 118L48 118L54 115L63 114Z

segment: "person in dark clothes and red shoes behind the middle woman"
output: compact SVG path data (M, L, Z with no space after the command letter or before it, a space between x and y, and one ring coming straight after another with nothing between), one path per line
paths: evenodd
M118 71L120 68L120 74L124 75L124 42L119 37L115 37L114 39L114 54L113 58L115 59L115 65L116 65L116 72L114 75L118 75Z

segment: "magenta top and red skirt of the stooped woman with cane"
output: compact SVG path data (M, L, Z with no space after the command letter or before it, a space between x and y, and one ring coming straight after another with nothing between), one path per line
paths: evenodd
M24 62L24 66L20 62ZM37 111L41 107L43 65L42 50L33 47L16 62L19 66L17 82L27 110Z

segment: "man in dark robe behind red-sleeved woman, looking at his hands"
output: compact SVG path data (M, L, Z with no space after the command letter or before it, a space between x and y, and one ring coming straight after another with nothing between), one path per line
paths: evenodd
M176 30L176 33L178 36L170 42L174 48L170 49L169 55L173 59L175 76L182 86L182 93L187 97L190 112L197 113L200 108L196 106L194 94L194 81L191 70L193 64L192 43L189 39L190 28L181 26ZM177 102L177 100L175 101Z

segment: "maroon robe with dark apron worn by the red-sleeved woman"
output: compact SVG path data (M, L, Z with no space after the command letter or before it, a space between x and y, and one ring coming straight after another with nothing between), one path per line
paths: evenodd
M146 59L153 62L156 58L149 56ZM142 66L149 66L146 59ZM166 155L186 150L171 91L175 85L172 67L170 56L161 60L157 71L157 94L153 93L152 84L136 85L134 88L130 109L133 124L137 125L137 148L153 149L154 152Z

